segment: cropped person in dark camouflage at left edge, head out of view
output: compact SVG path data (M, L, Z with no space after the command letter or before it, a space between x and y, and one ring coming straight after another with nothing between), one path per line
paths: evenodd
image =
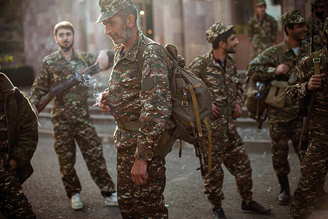
M37 118L28 98L0 73L0 212L6 218L36 218L21 184L32 174Z

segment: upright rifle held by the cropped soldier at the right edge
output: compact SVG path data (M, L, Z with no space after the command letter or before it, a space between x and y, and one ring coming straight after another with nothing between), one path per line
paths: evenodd
M310 53L314 52L314 45L313 45L313 41L314 41L314 21L312 21L311 24L311 47L310 47ZM316 72L315 72L316 73ZM314 107L314 98L317 94L317 90L314 90L311 96L311 102L310 102L310 106L309 106L309 110L308 110L308 115L303 117L303 127L302 127L302 132L301 132L301 138L299 141L299 149L300 150L307 150L308 149L308 137L309 137L309 125L310 125L310 120L311 120L311 116L313 114L313 107ZM306 105L305 105L306 107Z

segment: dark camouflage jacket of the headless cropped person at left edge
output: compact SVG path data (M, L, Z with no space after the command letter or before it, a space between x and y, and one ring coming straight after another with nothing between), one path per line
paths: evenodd
M8 157L6 160L8 162L10 158L13 158L17 162L17 176L20 183L23 183L33 172L30 161L38 142L37 118L28 98L23 93L16 91L19 92L19 98L16 101L15 88L3 73L0 73L0 85L2 97L5 100L4 109L8 132Z

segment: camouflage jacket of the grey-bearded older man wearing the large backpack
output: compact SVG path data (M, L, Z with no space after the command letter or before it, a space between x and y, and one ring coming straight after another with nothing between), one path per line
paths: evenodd
M116 54L108 88L110 113L115 119L140 122L139 131L117 127L116 148L136 146L134 156L146 161L152 160L159 136L172 111L169 70L173 64L164 48L148 46L142 55L142 70L138 67L140 49L151 42L139 31L138 38L127 52L123 52L122 45L114 46ZM142 88L146 81L150 86Z

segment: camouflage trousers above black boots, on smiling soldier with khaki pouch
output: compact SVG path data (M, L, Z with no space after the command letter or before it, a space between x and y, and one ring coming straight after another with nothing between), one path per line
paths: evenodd
M301 152L298 149L301 137L303 118L298 117L289 122L270 122L269 130L271 137L271 157L273 169L279 176L288 175L291 171L288 162L288 141L292 140L294 150L301 159Z

